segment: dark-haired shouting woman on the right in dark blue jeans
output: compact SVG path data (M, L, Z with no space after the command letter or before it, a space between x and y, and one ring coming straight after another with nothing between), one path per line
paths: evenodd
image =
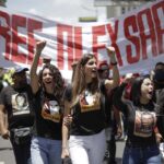
M125 114L127 121L122 164L162 164L153 82L148 74L133 79L129 97L127 85L128 81L122 82L114 94L114 105Z

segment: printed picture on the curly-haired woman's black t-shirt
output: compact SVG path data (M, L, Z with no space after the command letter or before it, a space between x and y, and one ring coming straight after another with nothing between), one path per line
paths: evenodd
M57 101L45 102L42 109L42 116L44 119L60 122L61 115L58 102Z

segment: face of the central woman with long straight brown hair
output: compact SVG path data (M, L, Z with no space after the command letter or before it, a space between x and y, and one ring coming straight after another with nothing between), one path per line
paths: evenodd
M92 79L97 77L97 69L96 69L96 59L91 58L85 65L85 79L86 82L90 83Z

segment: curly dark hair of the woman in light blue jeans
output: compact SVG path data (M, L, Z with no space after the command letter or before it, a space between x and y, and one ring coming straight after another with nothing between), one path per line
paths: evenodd
M62 94L63 94L63 90L65 90L65 81L61 77L61 73L59 71L59 69L50 63L47 63L43 67L42 71L39 72L39 83L40 83L40 87L43 87L45 90L45 85L43 83L43 72L45 69L49 69L50 72L52 73L52 79L55 82L55 86L54 86L54 95L56 96L56 98L60 102Z

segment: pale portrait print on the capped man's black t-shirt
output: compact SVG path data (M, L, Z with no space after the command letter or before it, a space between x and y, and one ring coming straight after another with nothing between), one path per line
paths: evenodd
M26 93L16 93L11 96L13 116L30 114L30 105Z

